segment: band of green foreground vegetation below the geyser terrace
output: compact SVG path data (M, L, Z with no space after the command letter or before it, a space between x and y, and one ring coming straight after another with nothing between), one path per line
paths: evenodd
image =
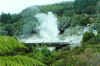
M88 35L86 35L88 34ZM91 34L91 35L89 35ZM92 36L85 33L85 38ZM86 37L87 36L87 37ZM95 36L92 36L95 38ZM91 38L91 39L92 39ZM84 45L85 44L85 45ZM87 45L86 45L87 44ZM1 66L90 66L100 61L100 42L88 43L84 41L82 46L71 50L60 49L50 51L46 46L36 46L28 49L28 46L8 36L0 36L0 65ZM41 48L41 49L39 49ZM83 59L83 60L82 60ZM6 60L6 61L5 61ZM94 62L95 60L95 62Z

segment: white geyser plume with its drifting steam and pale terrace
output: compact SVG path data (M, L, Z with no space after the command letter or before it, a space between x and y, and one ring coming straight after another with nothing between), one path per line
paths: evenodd
M70 26L66 28L64 34L59 35L59 30L57 26L58 20L56 15L54 15L52 12L37 13L36 15L33 16L34 16L33 20L31 18L29 19L28 22L25 21L26 22L25 27L26 26L27 27L24 28L24 30L27 29L27 31L24 31L25 32L24 35L28 34L29 30L30 34L32 32L32 29L36 30L37 33L36 34L31 33L31 36L20 39L24 43L66 42L72 44L73 46L78 46L80 45L83 34L89 31L88 26L85 28L83 26L74 26L74 27ZM37 25L37 27L33 28L34 25Z

